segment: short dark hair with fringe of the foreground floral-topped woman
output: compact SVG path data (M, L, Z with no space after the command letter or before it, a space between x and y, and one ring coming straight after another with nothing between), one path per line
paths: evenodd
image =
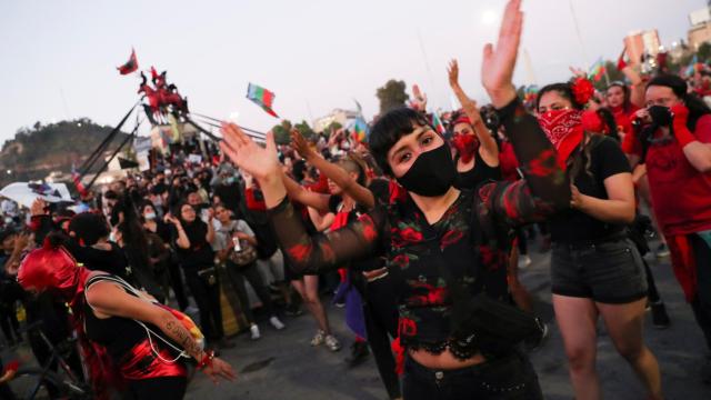
M415 126L430 127L427 117L410 108L397 108L385 112L370 130L368 146L375 162L385 174L392 174L388 163L388 151L405 134L412 133Z

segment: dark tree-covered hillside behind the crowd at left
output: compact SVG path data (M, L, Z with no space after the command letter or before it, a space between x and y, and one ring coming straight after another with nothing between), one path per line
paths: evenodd
M82 118L50 124L37 122L31 129L18 130L0 150L0 187L42 179L52 171L70 173L72 163L79 168L111 129ZM126 133L119 133L109 149L116 149L124 138ZM97 161L92 170L100 164Z

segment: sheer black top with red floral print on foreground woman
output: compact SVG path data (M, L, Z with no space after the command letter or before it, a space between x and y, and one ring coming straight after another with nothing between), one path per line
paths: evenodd
M449 349L468 359L481 351L472 337L454 337L452 299L440 271L472 296L508 301L507 263L513 228L568 207L570 186L557 153L520 102L499 111L525 180L489 182L461 191L439 221L429 223L408 192L391 183L390 201L344 228L310 236L284 199L270 210L277 237L298 272L318 273L344 261L387 259L397 283L399 334L404 348Z

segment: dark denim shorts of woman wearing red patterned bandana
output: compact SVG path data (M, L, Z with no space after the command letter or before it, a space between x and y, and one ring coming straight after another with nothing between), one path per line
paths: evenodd
M623 304L647 297L642 256L627 238L588 243L553 243L553 294Z

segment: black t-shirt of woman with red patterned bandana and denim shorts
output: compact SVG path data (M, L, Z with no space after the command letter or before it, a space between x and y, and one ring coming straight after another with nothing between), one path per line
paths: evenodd
M577 177L571 177L571 183L578 187L580 193L598 199L608 199L604 180L613 174L631 172L630 163L624 157L620 144L610 138L599 137L593 140L590 158L590 172L581 168ZM571 157L574 157L572 154ZM551 239L554 242L578 242L599 240L619 233L623 224L602 222L579 210L570 209L550 219Z

